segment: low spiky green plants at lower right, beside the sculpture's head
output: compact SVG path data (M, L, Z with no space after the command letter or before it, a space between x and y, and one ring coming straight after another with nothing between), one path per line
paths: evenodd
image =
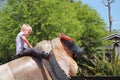
M102 55L102 59L100 59ZM79 76L119 76L120 64L119 60L114 63L104 59L103 54L91 55L91 58L83 56L79 62L81 72Z

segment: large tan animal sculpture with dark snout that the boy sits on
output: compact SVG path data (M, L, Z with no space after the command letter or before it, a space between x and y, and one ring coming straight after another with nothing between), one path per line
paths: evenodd
M0 66L0 80L68 80L76 76L78 65L73 57L79 58L82 49L72 38L61 35L53 40L39 42L35 48L53 55L49 61L24 56Z

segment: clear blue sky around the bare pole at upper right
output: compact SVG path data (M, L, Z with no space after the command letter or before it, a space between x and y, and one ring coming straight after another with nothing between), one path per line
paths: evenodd
M90 7L95 9L100 15L100 17L103 18L104 21L107 23L107 26L109 26L108 7L104 6L102 0L81 1L83 4L88 4ZM120 0L115 0L114 3L111 3L111 16L113 18L112 30L120 30Z

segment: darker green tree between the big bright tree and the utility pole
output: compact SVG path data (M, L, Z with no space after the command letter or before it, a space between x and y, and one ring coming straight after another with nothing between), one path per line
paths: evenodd
M83 5L80 12L78 15L85 14L85 16L79 16L79 20L84 25L84 32L80 39L84 50L87 51L85 53L91 55L95 47L102 45L100 39L107 35L108 32L105 29L103 20L95 10L91 9L88 5Z

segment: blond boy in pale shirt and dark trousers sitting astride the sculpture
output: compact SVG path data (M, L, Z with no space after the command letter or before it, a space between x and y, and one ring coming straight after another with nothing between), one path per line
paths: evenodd
M27 37L31 34L32 28L29 24L23 24L21 31L16 37L16 55L17 56L34 56L38 58L45 58L49 60L52 52L45 53L44 51L39 51L32 47ZM29 48L28 48L29 47Z

